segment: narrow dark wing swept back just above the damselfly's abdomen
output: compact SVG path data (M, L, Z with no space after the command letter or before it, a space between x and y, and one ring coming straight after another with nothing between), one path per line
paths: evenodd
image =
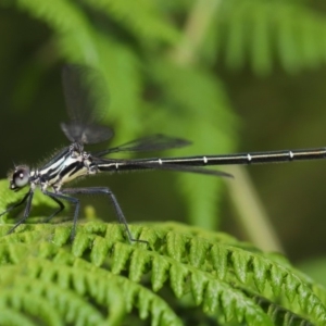
M172 148L185 147L190 143L191 141L186 139L168 137L168 136L158 134L158 135L139 138L98 153L93 153L93 155L100 158L116 152L162 151Z

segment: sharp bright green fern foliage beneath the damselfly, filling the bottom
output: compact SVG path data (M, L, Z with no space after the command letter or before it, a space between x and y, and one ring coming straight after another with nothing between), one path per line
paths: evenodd
M0 227L2 324L324 325L326 290L284 259L173 223ZM184 313L183 313L184 311ZM137 322L138 319L138 322ZM310 324L311 323L311 324ZM215 324L214 324L215 325ZM217 325L217 324L216 324Z

